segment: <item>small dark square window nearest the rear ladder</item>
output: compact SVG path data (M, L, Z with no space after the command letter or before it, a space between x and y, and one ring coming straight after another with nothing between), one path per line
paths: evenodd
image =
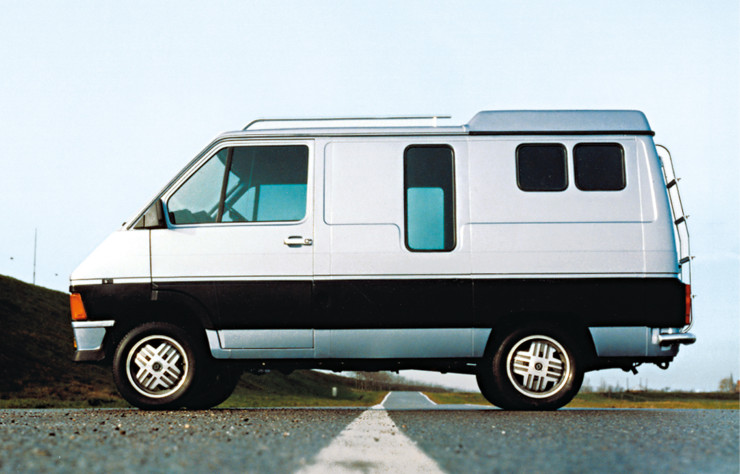
M624 149L618 143L579 143L573 148L576 187L620 191L627 186Z

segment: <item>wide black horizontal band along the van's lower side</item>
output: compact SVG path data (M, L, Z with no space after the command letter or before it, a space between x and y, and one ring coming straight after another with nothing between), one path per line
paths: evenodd
M247 280L155 288L76 291L91 320L191 311L216 329L491 328L531 316L675 328L686 311L685 286L676 278Z

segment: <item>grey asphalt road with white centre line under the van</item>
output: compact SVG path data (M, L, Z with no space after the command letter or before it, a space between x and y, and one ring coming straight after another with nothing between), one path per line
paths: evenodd
M739 472L735 410L0 410L2 472Z

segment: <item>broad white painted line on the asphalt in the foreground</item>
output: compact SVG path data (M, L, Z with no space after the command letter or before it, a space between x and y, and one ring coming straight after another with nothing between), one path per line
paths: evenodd
M366 410L299 474L443 472L398 429L385 410Z

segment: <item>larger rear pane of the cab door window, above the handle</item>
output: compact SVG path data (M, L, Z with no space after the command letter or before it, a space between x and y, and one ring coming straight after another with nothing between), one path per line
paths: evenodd
M299 221L306 215L308 147L234 149L223 222Z

